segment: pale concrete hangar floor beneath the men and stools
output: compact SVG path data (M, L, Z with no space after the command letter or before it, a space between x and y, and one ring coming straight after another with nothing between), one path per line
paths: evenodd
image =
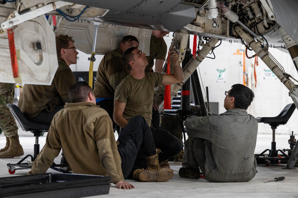
M33 144L35 138L30 132L19 131L20 142L24 148L25 155L33 154ZM297 138L298 136L296 136ZM257 136L257 146L255 153L260 153L264 149L270 148L272 135L259 134ZM117 137L116 137L117 139ZM289 135L276 135L277 149L287 149ZM40 147L45 144L46 134L39 139ZM0 135L1 148L5 145L5 137ZM237 151L235 151L237 152ZM6 164L16 163L21 157L14 159L0 159L0 181L1 177L13 177L26 175L28 170L16 170L15 174L9 174ZM55 163L60 163L60 156L55 159ZM298 194L298 169L282 169L285 164L258 165L256 176L248 182L242 183L211 183L204 179L187 179L178 175L181 162L170 162L174 171L174 177L167 182L145 183L134 180L127 180L135 186L131 190L119 190L111 184L108 195L92 197L296 197ZM47 173L57 173L49 169ZM285 180L280 182L263 183L275 177L284 176ZM1 197L1 192L0 192Z

